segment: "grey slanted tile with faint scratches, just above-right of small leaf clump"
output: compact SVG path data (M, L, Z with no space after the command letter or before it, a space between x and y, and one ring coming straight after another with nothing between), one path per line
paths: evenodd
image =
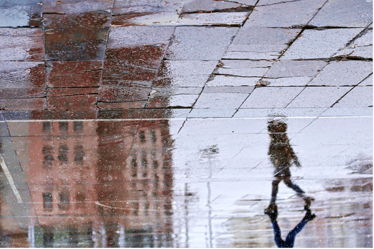
M327 65L325 61L291 61L275 62L265 74L266 78L281 77L315 77Z

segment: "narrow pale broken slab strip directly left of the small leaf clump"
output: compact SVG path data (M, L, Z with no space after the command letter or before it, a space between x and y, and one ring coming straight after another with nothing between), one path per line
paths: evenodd
M229 75L213 75L206 86L254 86L261 77L237 77Z

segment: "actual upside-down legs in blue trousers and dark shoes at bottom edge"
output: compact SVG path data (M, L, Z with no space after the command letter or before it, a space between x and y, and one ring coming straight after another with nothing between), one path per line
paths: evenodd
M304 209L306 210L306 215L304 218L299 222L299 224L296 225L294 229L289 231L286 240L283 240L281 237L281 229L279 229L278 222L277 222L277 216L278 216L278 210L277 206L275 205L274 208L268 212L265 212L267 215L269 215L270 220L272 221L273 230L274 230L274 240L277 244L278 248L293 248L295 237L300 231L304 228L304 226L308 223L308 221L312 221L314 218L316 218L315 214L312 214L312 211L307 207L307 205L304 206Z

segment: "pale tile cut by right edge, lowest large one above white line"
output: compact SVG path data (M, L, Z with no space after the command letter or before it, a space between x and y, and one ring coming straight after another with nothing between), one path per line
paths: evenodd
M334 108L369 106L373 106L373 86L356 86L340 99Z

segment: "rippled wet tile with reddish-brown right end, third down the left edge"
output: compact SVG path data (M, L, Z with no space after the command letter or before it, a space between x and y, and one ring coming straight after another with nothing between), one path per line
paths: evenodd
M44 88L43 62L0 62L0 88Z

